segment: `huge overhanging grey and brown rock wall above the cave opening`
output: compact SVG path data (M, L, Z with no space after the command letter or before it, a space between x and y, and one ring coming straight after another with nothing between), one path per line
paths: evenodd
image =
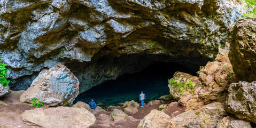
M127 59L100 63L104 55L213 60L219 47L229 46L229 27L240 12L229 0L3 0L0 57L12 89L26 89L39 71L63 63L74 69L84 91L131 70L125 68ZM76 71L81 68L93 70ZM104 68L113 74L90 78L91 71L108 74Z

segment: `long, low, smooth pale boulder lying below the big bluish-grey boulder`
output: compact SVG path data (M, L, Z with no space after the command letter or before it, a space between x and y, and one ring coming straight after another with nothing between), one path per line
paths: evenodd
M87 109L72 107L26 110L21 118L29 125L49 128L90 127L96 121Z

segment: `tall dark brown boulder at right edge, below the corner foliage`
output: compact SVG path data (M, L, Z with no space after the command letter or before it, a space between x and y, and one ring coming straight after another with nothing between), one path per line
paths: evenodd
M256 18L239 20L230 30L229 59L240 81L256 81Z

